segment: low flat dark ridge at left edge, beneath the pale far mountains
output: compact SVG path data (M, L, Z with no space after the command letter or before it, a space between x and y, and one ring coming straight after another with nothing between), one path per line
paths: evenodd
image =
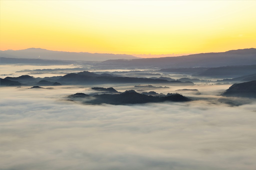
M3 55L4 56L4 55ZM0 57L1 64L47 64L47 65L67 65L71 64L67 61L58 60L42 60L42 59L27 59L27 58L6 58Z

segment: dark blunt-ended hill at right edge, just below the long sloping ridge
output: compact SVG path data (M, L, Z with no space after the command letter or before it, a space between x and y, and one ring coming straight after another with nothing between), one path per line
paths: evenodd
M254 73L256 73L256 65L225 66L225 67L210 68L200 73L199 76L208 76L208 77L243 76L243 75L254 74Z

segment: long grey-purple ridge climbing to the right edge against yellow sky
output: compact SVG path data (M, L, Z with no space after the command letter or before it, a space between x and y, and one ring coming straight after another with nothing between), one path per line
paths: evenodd
M131 60L107 60L101 63L108 66L123 67L162 67L162 68L191 68L191 67L221 67L256 64L256 49L238 49L222 53L201 53L179 57L145 58Z

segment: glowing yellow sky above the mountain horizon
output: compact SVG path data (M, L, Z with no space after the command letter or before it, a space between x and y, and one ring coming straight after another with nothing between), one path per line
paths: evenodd
M113 54L256 47L256 1L0 1L0 49Z

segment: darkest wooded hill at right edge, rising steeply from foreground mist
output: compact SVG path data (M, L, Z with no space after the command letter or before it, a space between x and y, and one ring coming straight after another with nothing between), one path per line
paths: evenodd
M253 97L256 98L256 80L233 84L222 96Z

